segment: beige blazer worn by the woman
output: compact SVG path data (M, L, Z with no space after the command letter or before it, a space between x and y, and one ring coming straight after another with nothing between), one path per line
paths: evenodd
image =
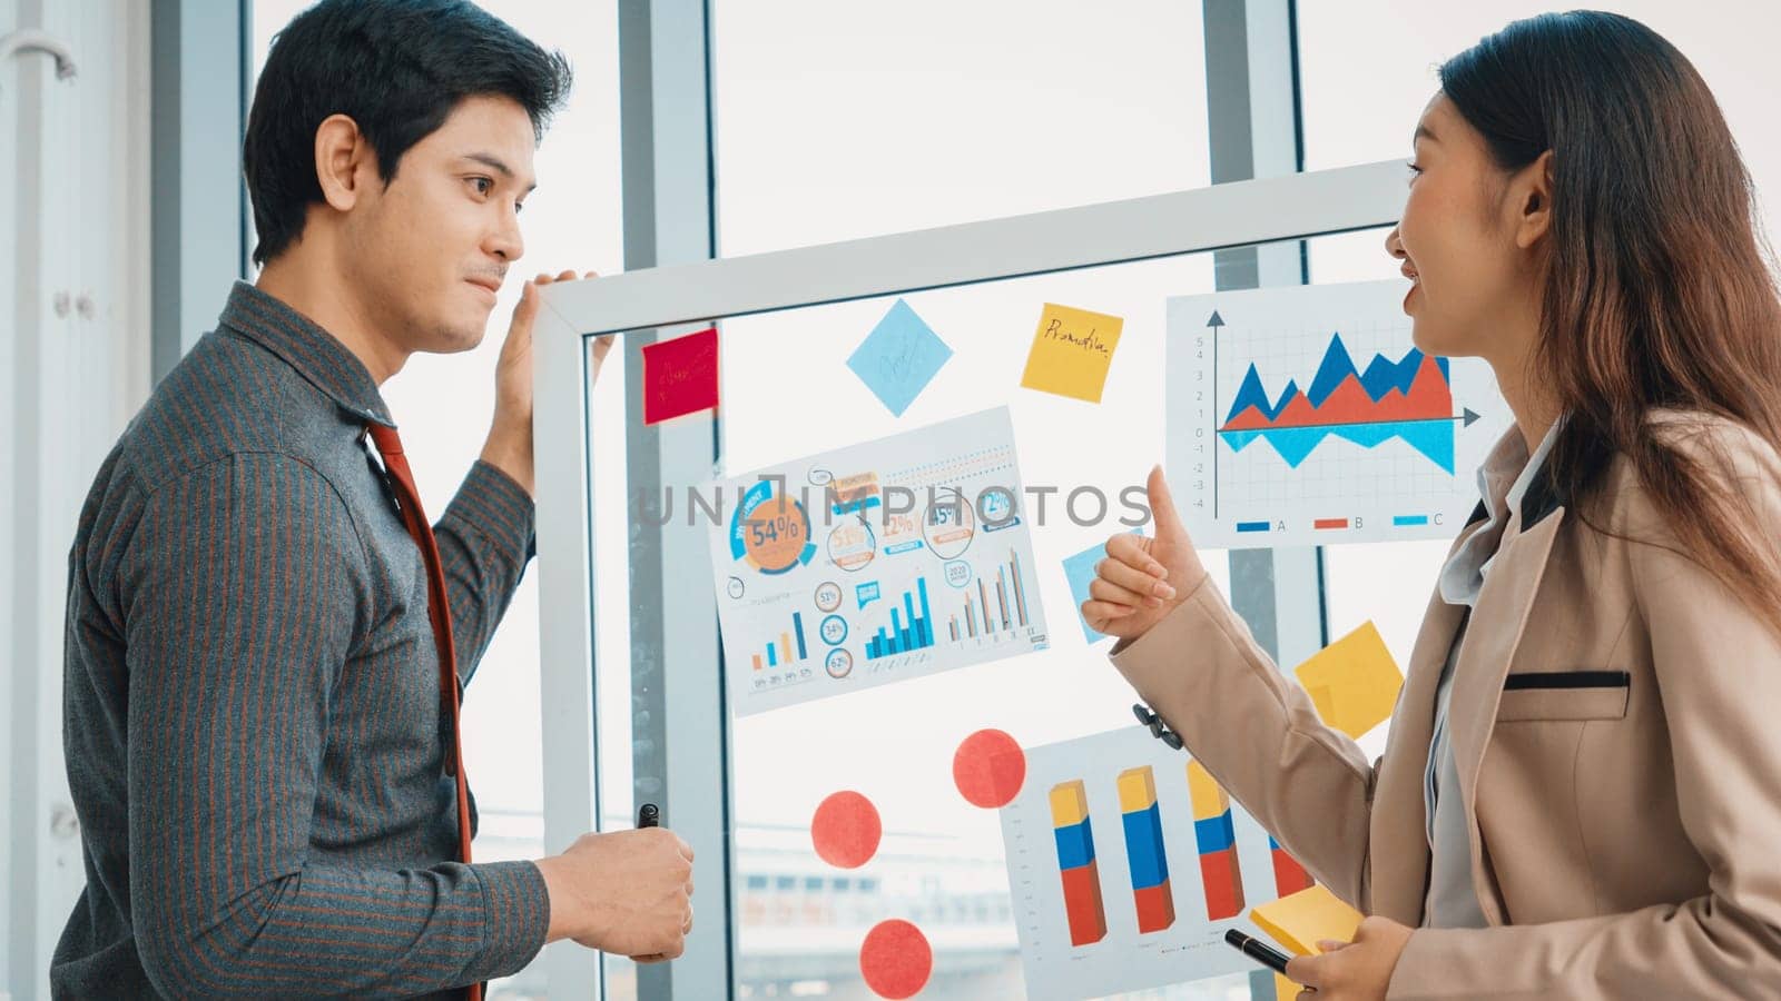
M1722 476L1760 513L1747 531L1781 540L1769 445L1728 422L1653 422L1708 463L1728 454ZM1448 723L1491 928L1418 928L1391 999L1781 997L1781 639L1663 549L1679 543L1624 461L1606 476L1592 520L1647 541L1589 529L1539 476L1510 515ZM1111 659L1322 883L1416 928L1423 769L1460 611L1428 602L1371 764L1209 581Z

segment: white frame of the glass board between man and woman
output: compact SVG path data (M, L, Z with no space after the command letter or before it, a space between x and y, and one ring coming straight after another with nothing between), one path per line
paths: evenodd
M545 287L533 335L545 851L563 851L598 816L586 338L1389 226L1403 180L1403 160L1382 160ZM670 684L709 670L664 664ZM671 753L728 768L716 732ZM721 830L677 834L702 857L730 850ZM714 892L732 887L702 885L707 899Z

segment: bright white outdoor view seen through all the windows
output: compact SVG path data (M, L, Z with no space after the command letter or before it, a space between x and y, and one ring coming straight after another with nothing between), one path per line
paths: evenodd
M272 32L305 5L255 0L255 69ZM481 447L518 280L622 269L616 4L484 5L568 53L577 84L538 151L540 189L522 216L525 260L509 276L486 342L463 356L417 356L385 387L435 513ZM1781 64L1767 48L1781 27L1776 12L1738 0L1599 5L1646 20L1696 61L1758 191L1770 196L1765 219L1774 232L1781 139L1769 128L1769 105L1781 91ZM711 7L718 235L727 256L1209 180L1199 4ZM1305 169L1407 157L1411 128L1435 89L1434 66L1544 7L1300 2ZM1313 281L1395 276L1382 240L1380 230L1313 240ZM953 354L901 417L846 369L894 299L727 321L723 468L739 476L1006 406L1024 483L1056 486L1058 497L1095 486L1117 499L1163 458L1163 299L1209 290L1209 260L1193 256L908 296ZM1126 321L1099 406L1019 387L1044 303ZM591 395L602 468L623 468L623 427L634 419L620 374L611 367ZM622 477L597 477L593 492L597 511L627 509ZM1118 531L1117 517L1115 502L1106 524L1079 525L1051 509L1035 525L1049 650L736 720L728 768L739 997L867 997L860 939L885 917L915 923L933 944L923 997L1021 996L1001 828L994 810L960 798L949 764L958 741L983 727L1042 745L1133 725L1133 695L1106 663L1110 641L1083 639L1060 570L1065 556ZM629 588L614 556L627 552L623 518L597 520L595 550L595 641L606 664L597 679L598 766L606 823L627 826ZM1371 618L1402 664L1444 550L1441 541L1327 547L1329 634ZM1224 554L1208 554L1208 563L1227 588ZM536 607L536 577L527 575L465 702L467 769L483 818L477 859L543 850ZM883 818L882 848L857 869L823 862L810 842L816 805L842 789L867 793ZM632 997L629 964L606 967L607 997ZM541 964L493 989L509 999L543 994ZM1248 997L1248 987L1238 976L1136 997L1236 999Z

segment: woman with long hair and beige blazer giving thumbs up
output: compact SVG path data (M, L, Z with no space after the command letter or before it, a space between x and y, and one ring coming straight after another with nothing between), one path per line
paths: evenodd
M1208 581L1161 470L1088 622L1186 748L1368 917L1318 1001L1781 997L1781 301L1736 144L1663 37L1516 21L1439 71L1386 249L1491 363L1478 472L1386 753Z

